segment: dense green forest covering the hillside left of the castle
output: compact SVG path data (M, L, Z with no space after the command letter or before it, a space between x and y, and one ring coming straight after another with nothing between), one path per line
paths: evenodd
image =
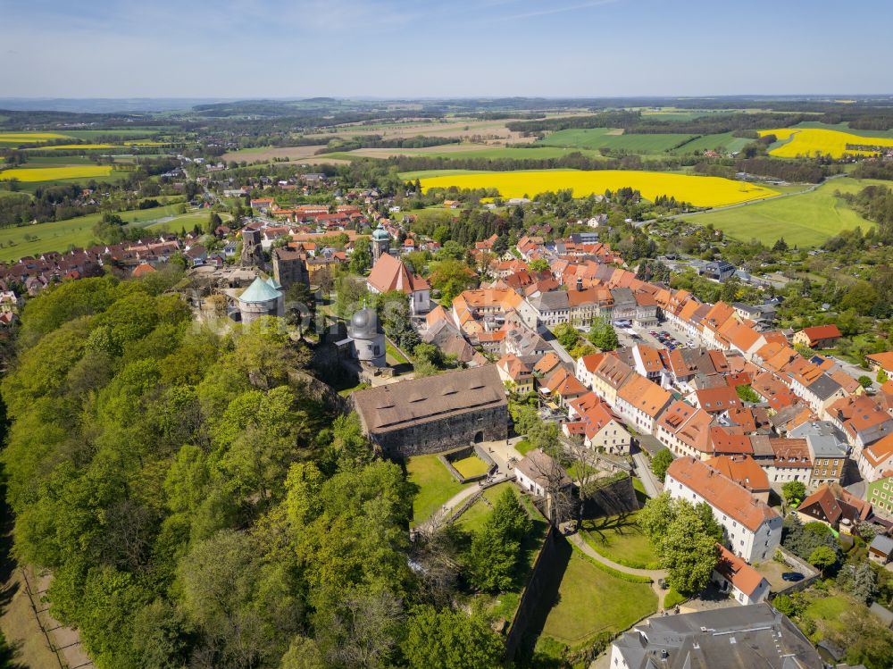
M305 345L270 318L196 325L179 277L24 308L3 464L52 615L102 669L500 665L488 618L454 603L513 580L514 495L473 537L410 542L414 486L308 381Z

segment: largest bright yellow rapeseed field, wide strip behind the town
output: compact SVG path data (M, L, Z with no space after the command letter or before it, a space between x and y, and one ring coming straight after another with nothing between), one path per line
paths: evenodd
M502 197L533 197L548 190L571 188L574 197L601 195L605 190L635 188L646 199L666 195L696 206L736 205L739 202L772 197L778 193L743 181L720 177L696 177L660 171L482 171L474 174L421 179L429 188L497 188Z

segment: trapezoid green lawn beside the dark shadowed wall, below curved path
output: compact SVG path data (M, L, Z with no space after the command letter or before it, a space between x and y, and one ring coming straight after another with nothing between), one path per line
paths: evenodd
M656 608L657 597L650 585L622 581L575 549L542 636L579 647L599 632L627 629Z

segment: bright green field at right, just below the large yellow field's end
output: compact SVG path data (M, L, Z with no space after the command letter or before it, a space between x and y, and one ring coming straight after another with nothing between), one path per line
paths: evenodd
M862 226L863 230L873 223L847 206L834 192L856 193L869 185L886 185L880 180L855 180L849 177L832 179L810 193L777 197L753 205L725 209L721 212L706 212L691 217L698 225L713 223L733 238L747 241L755 238L772 246L784 237L790 246L815 247L822 245L840 230L852 230Z

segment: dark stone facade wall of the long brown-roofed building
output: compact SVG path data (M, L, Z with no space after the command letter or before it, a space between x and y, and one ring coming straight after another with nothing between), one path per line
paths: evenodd
M481 439L475 439L479 433ZM464 414L447 414L437 421L383 434L373 432L370 436L391 457L442 453L474 441L508 439L508 409L503 404Z

